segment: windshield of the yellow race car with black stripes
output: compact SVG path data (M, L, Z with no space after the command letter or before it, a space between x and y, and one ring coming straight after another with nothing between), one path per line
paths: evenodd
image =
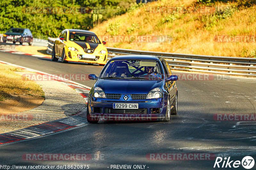
M69 40L100 44L100 40L95 34L88 34L84 32L69 32Z

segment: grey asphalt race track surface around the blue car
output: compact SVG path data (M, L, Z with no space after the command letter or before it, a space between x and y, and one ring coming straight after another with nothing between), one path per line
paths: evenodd
M0 52L0 60L50 74L99 74L103 68L4 52ZM39 138L1 145L0 164L66 165L66 169L72 169L68 165L89 165L89 169L114 169L113 165L145 165L145 169L149 170L225 169L213 168L216 157L230 157L234 161L242 161L244 156L255 159L256 120L251 118L251 121L243 121L238 118L232 121L232 117L224 119L223 116L226 121L221 121L217 119L217 114L249 114L250 117L254 114L255 118L256 80L222 76L210 76L210 80L187 80L187 74L173 74L180 74L177 81L179 102L178 115L172 115L170 122L100 121L99 124L86 124ZM92 87L95 81L77 82ZM22 155L27 153L82 153L90 154L92 158L24 160ZM163 153L172 153L170 159L176 159L166 160ZM187 160L184 155L189 153L202 153L211 157L210 160L204 160L203 157L199 157L200 160L197 157ZM182 157L177 158L179 154ZM152 160L154 158L162 160ZM243 169L243 166L229 169ZM252 169L256 169L256 166Z

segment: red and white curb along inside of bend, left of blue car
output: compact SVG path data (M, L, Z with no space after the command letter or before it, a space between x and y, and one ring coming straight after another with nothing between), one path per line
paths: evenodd
M0 63L7 64L10 66L14 66L14 67L19 67L21 69L24 69L24 70L27 70L30 72L34 72L36 74L49 76L51 79L60 81L63 84L69 86L70 88L75 89L76 92L78 92L80 95L83 96L86 103L88 102L88 95L89 95L89 92L91 89L88 86L85 86L83 84L80 84L80 83L77 83L77 82L74 82L74 81L71 81L68 79L64 79L62 77L59 77L59 76L56 76L53 74L44 73L44 72L41 72L38 70L18 66L18 65L11 64L8 62L0 61ZM2 134L0 134L0 145L8 144L11 142L16 142L16 141L20 141L20 140L24 140L24 139L28 139L28 138L39 137L42 135L54 133L57 131L63 131L66 129L74 128L74 127L85 125L85 124L88 124L88 122L86 120L86 109L81 110L72 116L64 117L64 118L57 119L57 120L54 120L51 122L33 125L33 126L30 126L27 128L20 129L20 130L2 133Z

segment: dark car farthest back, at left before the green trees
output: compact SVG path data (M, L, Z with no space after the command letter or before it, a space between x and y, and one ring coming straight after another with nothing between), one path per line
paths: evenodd
M3 35L4 43L6 41L12 41L13 44L20 42L22 45L23 42L27 42L29 46L32 45L33 36L29 29L27 28L11 28Z

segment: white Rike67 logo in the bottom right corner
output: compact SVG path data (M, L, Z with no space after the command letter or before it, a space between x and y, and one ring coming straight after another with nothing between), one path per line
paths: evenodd
M245 169L251 169L254 166L254 159L251 156L245 156L242 161L240 160L230 160L230 157L225 157L224 159L221 157L217 157L214 163L214 168L238 168L239 166L243 166Z

